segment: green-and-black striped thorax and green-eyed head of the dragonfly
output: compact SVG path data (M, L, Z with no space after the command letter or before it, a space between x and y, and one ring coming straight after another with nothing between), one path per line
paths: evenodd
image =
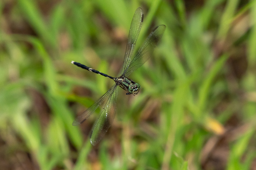
M126 93L126 95L133 94L134 96L140 92L140 85L138 83L135 83L128 77L117 77L114 78L114 81L118 83L118 85L128 91L129 93Z

